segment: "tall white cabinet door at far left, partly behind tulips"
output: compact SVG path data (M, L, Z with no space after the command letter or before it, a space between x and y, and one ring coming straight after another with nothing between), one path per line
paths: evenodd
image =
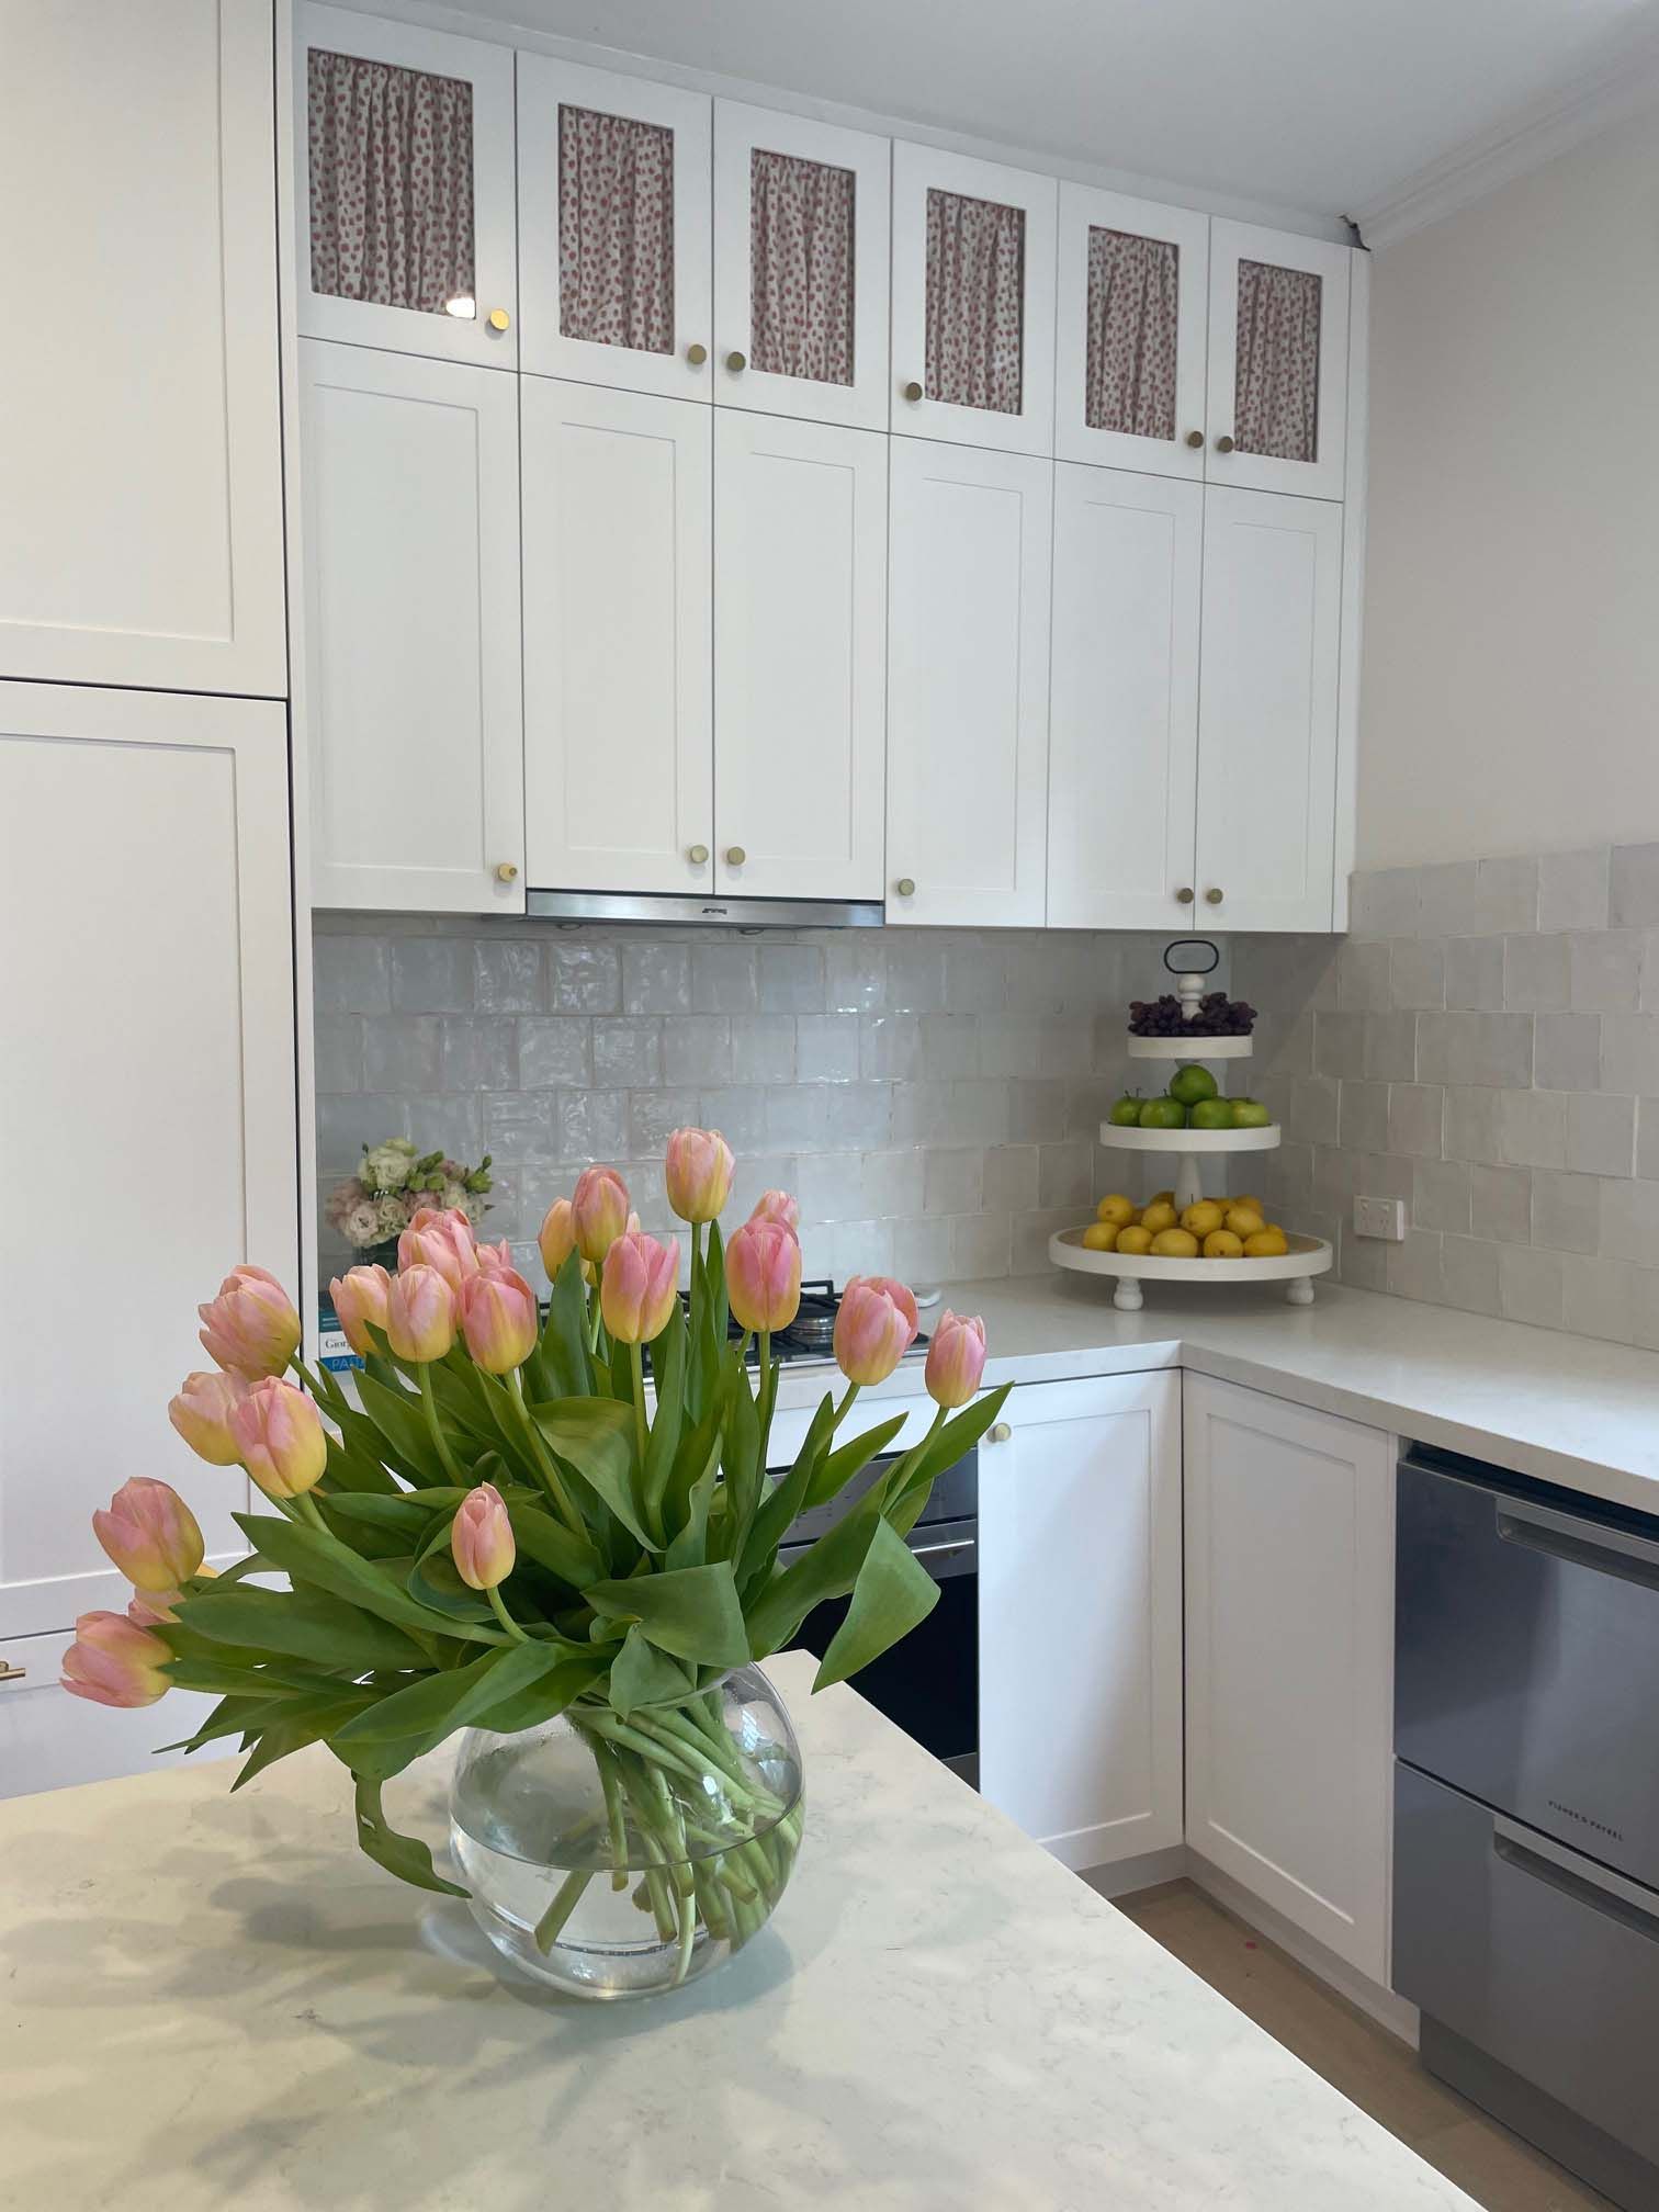
M22 1666L13 1639L126 1606L91 1513L128 1475L173 1482L210 1557L246 1548L246 1475L166 1407L210 1365L195 1310L232 1265L299 1292L283 708L0 684L0 1128L27 1164L0 1270L0 1659Z

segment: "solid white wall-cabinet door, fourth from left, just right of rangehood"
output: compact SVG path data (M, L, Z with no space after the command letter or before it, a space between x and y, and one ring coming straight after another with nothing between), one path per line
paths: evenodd
M1044 918L1053 462L894 440L887 920Z

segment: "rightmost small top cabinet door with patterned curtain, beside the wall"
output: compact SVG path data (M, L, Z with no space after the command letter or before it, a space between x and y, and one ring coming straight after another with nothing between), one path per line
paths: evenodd
M1210 226L1212 484L1343 498L1347 246Z

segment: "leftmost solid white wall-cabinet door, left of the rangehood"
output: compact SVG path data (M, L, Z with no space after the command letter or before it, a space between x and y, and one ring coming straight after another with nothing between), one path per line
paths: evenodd
M301 345L312 896L524 911L518 380Z

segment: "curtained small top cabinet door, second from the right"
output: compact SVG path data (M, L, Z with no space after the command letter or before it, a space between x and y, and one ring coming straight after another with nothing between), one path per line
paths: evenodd
M1055 453L1203 480L1210 217L1060 186Z

